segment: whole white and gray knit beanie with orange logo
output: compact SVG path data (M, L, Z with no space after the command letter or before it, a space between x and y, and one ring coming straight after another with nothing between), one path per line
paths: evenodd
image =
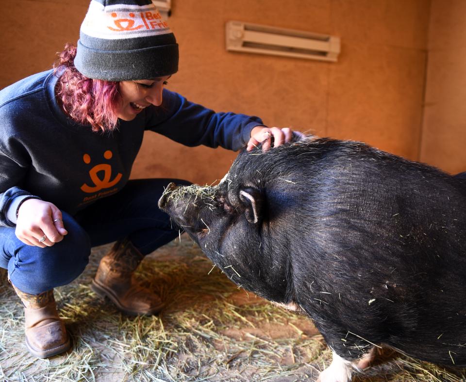
M178 44L151 0L91 0L74 65L98 80L150 80L178 71Z

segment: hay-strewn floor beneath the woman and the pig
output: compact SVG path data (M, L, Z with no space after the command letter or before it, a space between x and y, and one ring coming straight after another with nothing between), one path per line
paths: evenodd
M330 364L332 353L308 319L251 293L248 298L186 236L150 255L137 272L166 302L161 317L122 316L89 288L108 249L93 249L84 273L55 290L74 344L50 360L26 350L22 306L1 273L0 380L313 381ZM400 357L355 376L436 379L457 382L465 373Z

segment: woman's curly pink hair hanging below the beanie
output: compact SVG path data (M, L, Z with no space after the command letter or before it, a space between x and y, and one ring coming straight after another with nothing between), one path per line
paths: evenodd
M76 47L66 44L54 65L57 97L63 110L76 122L91 125L97 132L111 131L118 123L116 112L120 105L118 82L94 80L83 76L74 66Z

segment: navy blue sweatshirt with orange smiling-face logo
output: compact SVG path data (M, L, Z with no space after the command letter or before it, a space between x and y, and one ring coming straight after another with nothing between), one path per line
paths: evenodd
M0 225L16 225L22 195L38 196L75 214L121 190L128 181L145 130L187 146L238 150L250 139L257 117L216 113L163 91L163 103L110 133L95 133L60 109L57 78L38 73L0 91ZM163 159L159 159L163 160Z

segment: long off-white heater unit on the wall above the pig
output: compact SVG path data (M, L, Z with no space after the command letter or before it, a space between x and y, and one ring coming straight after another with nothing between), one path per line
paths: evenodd
M227 50L337 61L340 38L242 21L225 25Z

